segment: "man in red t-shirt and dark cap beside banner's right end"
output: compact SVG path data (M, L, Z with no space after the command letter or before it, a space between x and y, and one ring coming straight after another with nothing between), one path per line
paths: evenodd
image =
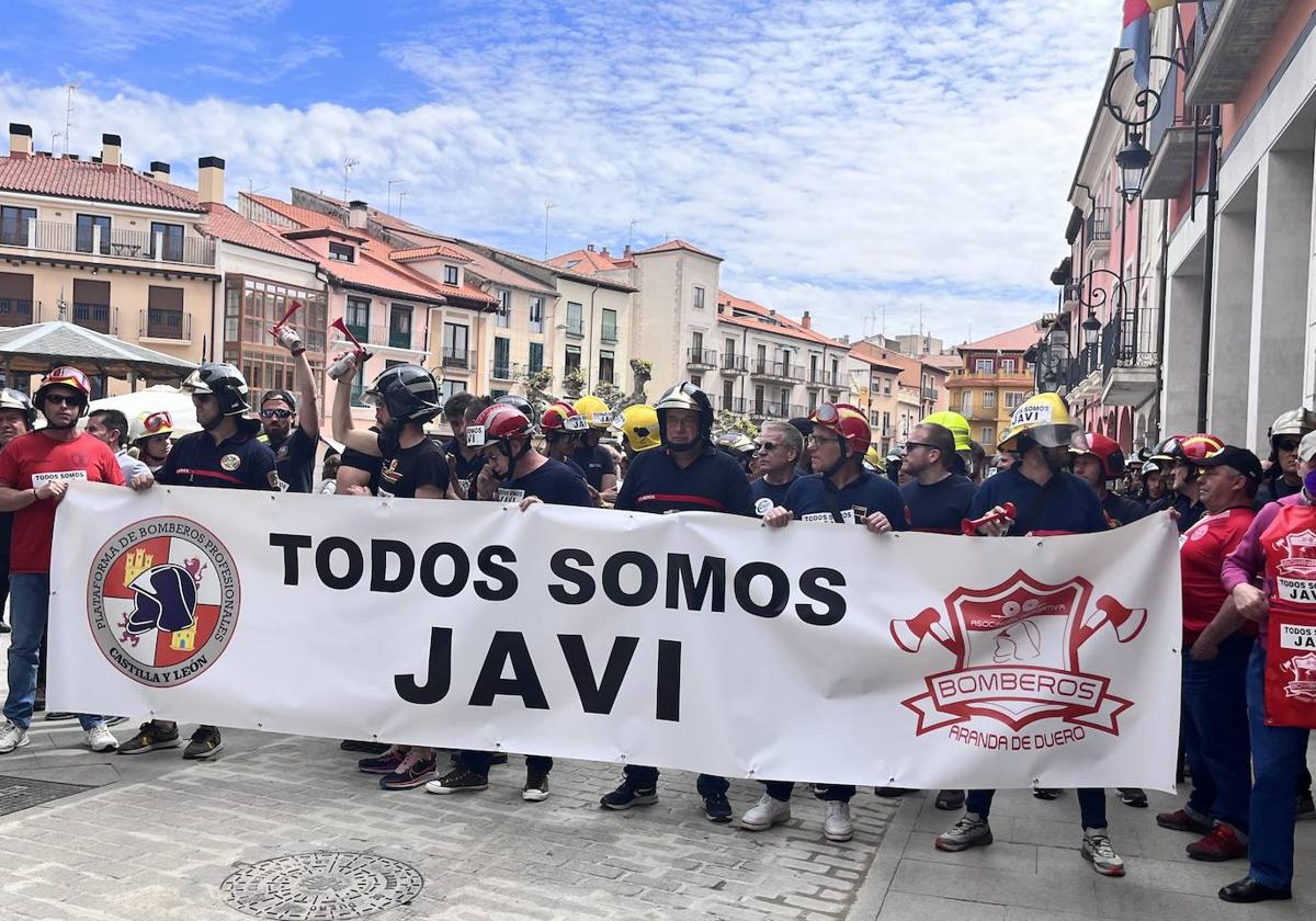
M1199 460L1205 514L1179 545L1183 579L1183 747L1192 768L1192 793L1175 812L1155 817L1161 828L1203 835L1187 846L1195 860L1248 855L1252 758L1248 745L1248 657L1257 625L1234 609L1220 584L1225 557L1255 517L1261 460L1225 445Z

